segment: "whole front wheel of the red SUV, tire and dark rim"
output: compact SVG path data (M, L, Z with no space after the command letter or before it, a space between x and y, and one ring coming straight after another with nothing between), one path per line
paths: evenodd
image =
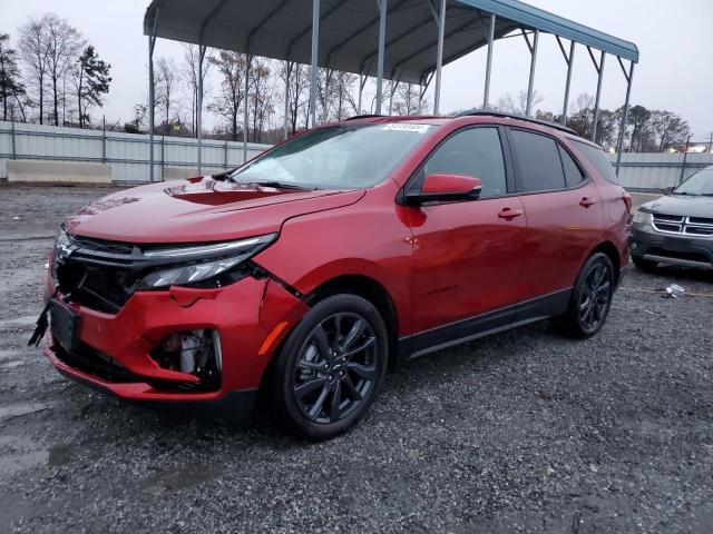
M349 429L377 397L388 346L383 319L369 300L355 295L321 300L295 326L277 357L277 415L310 439Z

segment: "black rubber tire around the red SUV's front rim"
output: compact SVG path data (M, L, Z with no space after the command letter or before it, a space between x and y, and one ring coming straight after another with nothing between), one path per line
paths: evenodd
M377 376L367 399L351 414L335 423L314 423L300 409L292 390L292 380L300 350L312 330L325 318L336 313L355 313L369 322L377 343ZM319 301L297 323L285 340L275 366L273 399L277 415L293 433L309 439L325 439L336 436L355 425L374 402L385 373L389 357L387 328L377 308L367 299L355 295L334 295Z

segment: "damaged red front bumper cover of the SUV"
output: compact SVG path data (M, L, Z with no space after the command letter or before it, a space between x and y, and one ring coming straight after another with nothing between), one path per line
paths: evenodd
M120 398L170 403L213 403L238 393L252 398L272 354L307 309L272 278L253 277L217 289L139 291L116 315L70 306L79 314L79 338L89 357L99 353L130 379L72 365L62 357L69 353L48 334L45 355L60 373ZM165 369L149 356L165 336L201 328L219 335L223 368L216 390L179 387L196 377Z

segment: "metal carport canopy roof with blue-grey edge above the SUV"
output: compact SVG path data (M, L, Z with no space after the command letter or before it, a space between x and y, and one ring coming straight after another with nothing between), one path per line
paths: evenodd
M377 76L379 8L373 0L321 0L318 65ZM439 2L390 0L387 9L383 77L423 83L436 70ZM158 16L156 17L156 14ZM450 0L442 62L447 65L514 30L539 30L638 61L632 42L557 17L517 0ZM279 60L311 62L310 0L153 0L144 32Z

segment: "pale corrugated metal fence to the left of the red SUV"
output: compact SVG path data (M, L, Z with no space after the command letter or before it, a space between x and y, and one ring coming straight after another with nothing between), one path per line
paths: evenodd
M0 179L9 178L8 161L33 160L107 165L114 182L147 182L149 146L146 135L0 121ZM268 147L248 144L247 159ZM202 152L203 174L219 172L243 162L242 142L204 140ZM155 136L154 162L155 180L162 176L168 179L197 176L197 140Z

